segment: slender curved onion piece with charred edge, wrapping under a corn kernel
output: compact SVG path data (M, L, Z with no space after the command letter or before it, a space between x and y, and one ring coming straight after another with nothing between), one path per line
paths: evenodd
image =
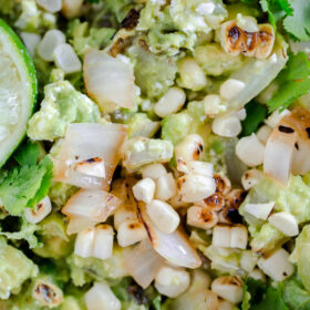
M153 248L167 261L186 268L198 268L202 265L200 257L190 245L187 236L178 230L164 234L152 224L141 203L137 206L138 217L145 226L148 239Z

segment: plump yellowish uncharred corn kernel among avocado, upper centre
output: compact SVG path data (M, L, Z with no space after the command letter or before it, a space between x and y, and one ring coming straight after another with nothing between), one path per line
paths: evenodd
M184 59L179 63L178 72L182 85L185 89L199 91L208 83L205 72L193 58Z

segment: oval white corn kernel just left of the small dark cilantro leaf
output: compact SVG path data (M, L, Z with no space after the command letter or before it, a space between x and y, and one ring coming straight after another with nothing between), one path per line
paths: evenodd
M235 137L241 132L240 120L236 115L217 117L213 122L213 132L219 136Z

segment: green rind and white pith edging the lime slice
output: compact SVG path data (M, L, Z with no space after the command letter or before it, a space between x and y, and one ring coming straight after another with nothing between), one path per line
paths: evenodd
M6 50L10 50L10 56L17 66L21 82L24 83L22 96L27 97L22 97L20 101L20 104L23 105L21 106L21 120L19 120L12 136L4 143L4 147L0 143L0 167L8 161L24 138L28 121L33 114L38 97L38 81L32 59L17 33L2 19L0 19L1 44L3 46L6 44Z

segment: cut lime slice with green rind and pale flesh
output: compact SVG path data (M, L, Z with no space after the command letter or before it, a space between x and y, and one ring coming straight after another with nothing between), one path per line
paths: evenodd
M37 94L33 62L14 31L0 19L0 167L25 135Z

